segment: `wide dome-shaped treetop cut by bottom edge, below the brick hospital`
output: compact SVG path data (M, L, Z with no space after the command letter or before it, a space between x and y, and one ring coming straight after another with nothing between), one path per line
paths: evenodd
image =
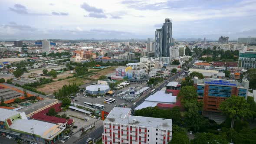
M191 144L229 144L222 136L211 133L197 133Z

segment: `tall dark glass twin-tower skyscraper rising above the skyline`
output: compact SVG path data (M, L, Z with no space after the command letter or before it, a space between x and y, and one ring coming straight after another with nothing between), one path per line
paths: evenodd
M170 57L172 35L172 22L171 19L165 19L162 29L155 31L155 57L164 56Z

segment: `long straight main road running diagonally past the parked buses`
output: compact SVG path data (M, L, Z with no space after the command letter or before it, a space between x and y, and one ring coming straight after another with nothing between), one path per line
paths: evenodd
M197 59L197 58L198 58L198 56L197 56L196 58L194 58L194 59L187 65L187 67L190 67L190 65L191 65L192 63L194 63L195 59ZM184 71L185 71L185 69L183 68L180 73L176 73L175 75L171 76L171 77L170 77L169 79L167 79L165 82L162 82L160 85L157 85L157 86L155 87L155 89L156 89L157 91L160 90L160 89L162 89L165 85L167 85L168 82L171 82L171 81L177 79L177 78L181 75L181 73L183 73ZM139 98L139 100L136 101L136 102L138 103L138 105L140 105L140 104L144 101L145 98L148 98L148 96L150 96L150 91L148 91L146 94L142 95L142 96ZM134 108L137 107L137 105L136 105L136 106L128 105L128 107L131 108L131 109L134 109ZM83 136L83 138L81 138L80 140L76 141L75 144L86 144L86 140L87 140L88 137L91 137L92 139L94 139L94 138L97 139L98 137L101 137L102 132L103 132L103 124L102 124L101 126L99 126L98 128L96 128L94 131L92 131L92 132L90 132L89 134L86 134L85 136Z

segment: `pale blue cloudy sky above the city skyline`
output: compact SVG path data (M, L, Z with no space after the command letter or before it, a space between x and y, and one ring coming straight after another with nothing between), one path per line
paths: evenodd
M0 0L0 39L256 36L256 0Z

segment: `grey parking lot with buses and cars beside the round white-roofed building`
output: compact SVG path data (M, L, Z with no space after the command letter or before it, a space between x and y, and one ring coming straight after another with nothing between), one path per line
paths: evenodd
M125 92L129 89L129 87L135 87L135 90L138 90L136 89L137 87L140 87L140 86L146 86L147 84L143 84L143 85L137 85L137 84L130 84L124 88L121 88L119 90L115 90L114 94L118 95L120 94L121 92ZM110 112L114 107L115 105L121 105L123 103L126 103L126 104L129 104L130 102L126 101L125 99L121 99L122 95L120 97L112 97L112 96L105 96L104 98L88 98L88 97L84 97L82 92L80 92L80 95L75 97L75 99L77 99L78 101L75 101L75 103L79 104L79 105L84 105L84 102L89 102L91 104L100 104L100 105L104 105L105 106L105 109L104 111L107 111L107 112ZM116 103L112 104L112 105L109 105L109 104L105 104L104 103L104 99L105 98L114 98L117 100Z

